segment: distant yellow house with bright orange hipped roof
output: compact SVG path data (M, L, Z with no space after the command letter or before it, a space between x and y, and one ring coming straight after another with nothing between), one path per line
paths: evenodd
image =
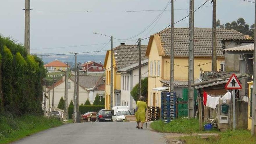
M44 65L44 67L45 67L45 69L48 70L48 72L56 72L56 71L62 71L62 70L66 71L67 70L66 63L63 63L58 60L47 63L46 65Z

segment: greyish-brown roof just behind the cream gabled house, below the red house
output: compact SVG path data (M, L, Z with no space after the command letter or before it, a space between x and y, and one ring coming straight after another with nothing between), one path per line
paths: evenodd
M74 81L74 76L71 76L70 79ZM79 75L79 85L84 88L96 88L98 85L105 84L102 80L102 76L93 76L93 75Z

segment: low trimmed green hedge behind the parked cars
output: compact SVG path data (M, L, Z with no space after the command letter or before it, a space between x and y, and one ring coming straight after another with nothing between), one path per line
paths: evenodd
M85 114L87 112L92 112L92 111L98 112L101 109L105 109L105 106L103 106L103 105L97 105L97 106L83 105L83 106L79 106L79 112L81 112L81 114ZM69 106L68 107L68 119L72 119L73 111L74 111L74 106Z

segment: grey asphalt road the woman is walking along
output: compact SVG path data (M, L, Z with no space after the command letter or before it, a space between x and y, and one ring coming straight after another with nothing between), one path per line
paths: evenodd
M135 122L70 123L13 144L164 144L163 134L136 129Z

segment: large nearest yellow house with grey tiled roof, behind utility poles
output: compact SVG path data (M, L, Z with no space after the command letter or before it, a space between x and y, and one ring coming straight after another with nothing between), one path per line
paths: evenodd
M174 32L175 91L177 95L181 95L182 88L188 86L189 29L175 28ZM211 71L212 29L195 28L194 33L194 79L196 80L200 78L200 68L203 71ZM166 29L151 35L148 42L146 50L146 57L149 58L148 106L161 106L160 87L168 87L170 84L170 34L171 30ZM241 33L233 29L217 29L217 70L224 67L221 41L239 36Z

